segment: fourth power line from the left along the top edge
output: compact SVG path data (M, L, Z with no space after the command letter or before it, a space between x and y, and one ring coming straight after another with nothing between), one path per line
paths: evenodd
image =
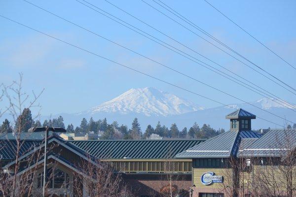
M247 80L246 78L243 78L242 76L240 76L240 75L238 75L238 74L234 73L234 72L233 72L233 71L231 71L230 69L227 69L226 67L224 67L224 66L221 66L220 64L218 64L218 63L216 63L216 62L212 61L211 59L209 59L209 58L207 58L207 57L203 56L202 54L198 53L197 51L193 50L192 48L190 48L190 47L186 46L185 44L183 44L183 43L179 42L178 40L174 39L174 38L173 38L173 37L171 37L170 35L168 35L168 34L166 34L166 33L163 33L163 32L161 32L160 30L158 30L158 29L154 28L153 26L151 26L151 25L147 24L146 22L142 21L141 19L139 19L139 18L135 17L134 15L132 15L132 14L128 13L127 11L125 11L125 10L121 9L121 8L120 8L120 7L118 7L117 5L115 5L115 4L113 4L113 3L111 3L110 1L108 1L108 0L105 0L105 1L106 1L106 2L108 2L108 3L110 3L112 6L116 7L117 9L119 9L119 10L123 11L124 13L128 14L129 16L131 16L131 17L135 18L136 20L140 21L141 23L143 23L143 24L147 25L148 27L152 28L153 30L155 30L155 31L157 31L157 32L159 32L159 33L161 33L161 34L163 34L163 35L167 36L168 38L170 38L170 39L174 40L175 42L177 42L177 43L181 44L182 46L184 46L184 47L186 47L187 49L189 49L189 50L193 51L194 53L196 53L196 54L198 54L198 55L202 56L203 58L205 58L205 59L207 59L207 60L211 61L212 63L214 63L214 64L216 64L216 65L218 65L218 66L222 67L223 69L225 69L225 70L227 70L227 71L231 72L232 74L234 74L234 75L236 75L236 76L238 76L238 77L240 77L240 78L242 78L242 79L246 80L247 82L249 82L249 83L251 83L251 84L255 85L256 87L258 87L259 89L261 89L261 90L263 90L263 91L267 92L268 94L270 94L270 95L272 95L272 96L270 96L270 95L268 95L268 94L266 94L266 93L264 93L264 92L262 92L262 91L258 90L257 88L254 88L254 87L252 87L252 88L254 88L255 90L257 90L257 91L259 91L259 92L261 92L261 93L263 93L263 94L267 95L268 97L271 97L271 98L273 98L273 99L276 99L276 98L277 98L276 100L278 100L279 102L281 102L281 103L279 103L279 102L275 101L275 102L277 102L278 104L281 104L282 106L285 106L285 107L287 107L287 105L288 105L288 106L290 106L290 107L292 107L292 108L294 108L294 109L295 109L295 106L294 106L294 105L290 104L289 102L285 101L284 99L281 99L281 98L279 98L279 97L275 96L274 94L272 94L272 93L268 92L267 90L265 90L265 89L263 89L263 88L259 87L258 85L254 84L253 82L251 82L251 81ZM205 64L205 63L204 63L204 64ZM223 72L223 73L224 73L224 72ZM224 74L226 74L226 73L224 73ZM235 80L237 80L237 81L240 81L241 83L243 83L243 84L245 84L245 85L247 85L247 86L249 86L249 84L246 84L245 82L243 82L243 81L241 81L241 80L239 80L239 79L236 79L236 78L234 78L234 77L232 77L232 76L230 76L230 75L228 75L228 74L226 74L226 75L227 75L227 76L229 76L229 77L231 77L231 78L233 78L233 79L235 79ZM237 82L235 82L235 83L237 83ZM238 83L238 84L239 84L239 83ZM240 85L241 85L241 84L240 84ZM244 87L245 87L245 86L244 86ZM246 87L246 88L248 88L248 87ZM248 89L249 89L249 88L248 88ZM255 93L259 94L258 92L254 91L254 90L252 90L252 89L249 89L249 90L251 90L251 91L253 91L253 92L255 92ZM259 94L259 95L261 95L261 96L265 97L265 96L264 96L264 95L262 95L262 94ZM267 99L270 99L270 98L268 98L268 97L267 97ZM276 98L274 98L274 97L276 97ZM272 99L270 99L270 100L272 100ZM272 100L272 101L274 101L274 100Z

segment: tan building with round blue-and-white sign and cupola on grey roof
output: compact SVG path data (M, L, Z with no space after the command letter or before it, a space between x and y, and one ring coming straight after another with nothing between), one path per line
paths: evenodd
M277 179L273 184L279 189L274 196L287 196L285 181L279 181L285 177L279 176L289 173L279 170L285 165L279 161L291 152L291 163L296 161L296 131L270 130L262 135L251 130L251 120L255 118L238 109L226 116L230 119L229 131L176 155L179 159L192 159L192 197L269 197L272 194L265 193L271 184L259 183L269 179ZM290 173L295 174L296 164L291 165ZM272 176L270 172L274 171L277 174ZM269 174L265 181L264 174ZM292 176L291 191L295 191L296 177ZM259 191L262 189L265 191Z

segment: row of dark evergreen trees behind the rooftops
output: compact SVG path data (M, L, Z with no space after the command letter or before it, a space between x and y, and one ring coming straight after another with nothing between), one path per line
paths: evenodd
M86 118L83 118L78 127L74 128L73 124L69 124L66 128L62 116L44 120L42 124L39 120L34 121L29 108L25 108L18 119L21 121L16 121L14 126L5 119L0 126L0 132L13 132L17 128L23 128L23 131L27 132L31 127L48 126L61 127L66 129L69 133L98 133L101 136L100 139L211 138L224 132L224 129L215 130L210 125L206 124L199 127L197 123L194 123L189 129L185 127L182 130L179 130L176 123L168 128L165 125L161 125L160 122L158 122L155 127L148 125L146 130L142 131L137 118L133 120L131 128L128 128L127 125L119 126L116 121L108 123L106 118L97 121L93 118L90 118L89 121L87 121Z

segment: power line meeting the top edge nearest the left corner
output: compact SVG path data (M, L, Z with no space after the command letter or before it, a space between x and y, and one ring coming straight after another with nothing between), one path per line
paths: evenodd
M114 42L114 41L112 41L112 40L110 40L110 39L108 39L108 38L106 38L106 37L104 37L104 36L99 35L98 33L94 33L94 32L92 32L92 31L90 31L90 30L88 30L88 29L86 29L86 28L83 28L82 26L79 26L79 25L77 25L77 24L75 24L75 23L73 23L73 22L71 22L71 21L69 21L69 20L67 20L67 19L65 19L65 18L63 18L63 17L60 17L60 16L58 16L58 15L56 15L56 14L54 14L54 13L52 13L52 12L50 12L50 11L48 11L48 10L46 10L46 9L44 9L44 8L42 8L42 7L40 7L40 6L38 6L38 5L36 5L36 4L34 4L34 3L32 3L32 2L30 2L30 1L28 1L28 0L24 0L24 1L27 2L27 3L30 3L31 5L33 5L33 6L37 7L37 8L39 8L39 9L41 9L41 10L47 12L47 13L49 13L49 14L55 16L55 17L58 17L58 18L60 18L60 19L62 19L62 20L64 20L64 21L66 21L66 22L68 22L68 23L71 23L72 25L74 25L74 26L76 26L76 27L79 27L79 28L81 28L81 29L83 29L83 30L85 30L85 31L87 31L87 32L89 32L89 33L92 33L92 34L94 34L94 35L97 35L97 36L99 36L99 37L101 37L101 38L104 38L105 40L108 40L108 41L112 42L113 44L116 44L116 45L118 45L118 46L120 46L120 47L123 47L124 49L127 49L127 50L129 50L129 51L131 51L131 52L133 52L133 53L136 53L137 55L140 55L140 56L142 56L142 57L144 57L144 58L146 58L146 59L148 59L148 60L150 60L150 61L152 61L152 62L154 62L154 63L157 63L157 64L159 64L160 66L164 66L164 67L166 67L166 68L168 68L168 69L170 69L170 70L173 70L174 72L177 72L178 74L181 74L181 75L183 75L183 76L185 76L185 77L188 77L188 78L190 78L190 79L192 79L192 80L194 80L194 81L197 81L197 82L199 82L199 83L201 83L201 84L203 84L203 85L205 85L205 86L208 86L208 87L210 87L210 88L212 88L212 89L214 89L214 90L216 90L216 91L219 91L219 92L221 92L221 93L223 93L223 94L225 94L225 95L227 95L227 96L230 96L230 97L232 97L232 98L234 98L234 99L238 99L238 100L243 101L243 102L245 102L245 103L248 103L248 104L250 104L250 105L252 105L252 106L254 106L254 107L257 107L257 106L254 105L254 104L251 104L251 103L249 103L249 102L247 102L247 101L245 101L245 100L243 100L243 99L239 99L239 98L237 98L237 97L235 97L235 96L233 96L233 95L230 95L230 94L228 94L228 93L226 93L226 92L224 92L224 91L222 91L222 90L220 90L220 89L218 89L218 88L215 88L215 87L213 87L213 86L211 86L211 85L208 85L208 84L206 84L206 83L204 83L204 82L202 82L202 81L200 81L200 80L198 80L198 79L195 79L195 78L193 78L193 77L191 77L191 76L189 76L189 75L187 75L187 74L185 74L185 73L183 73L183 72L180 72L180 71L178 71L178 70L176 70L176 69L173 69L173 68L171 68L171 67L169 67L169 66L166 66L166 65L164 65L164 64L161 64L161 63L159 63L159 62L157 62L157 61L155 61L155 60L152 60L152 59L148 58L147 56L144 56L144 55L142 55L142 54L140 54L140 53L138 53L138 52L136 52L136 51L134 51L134 50L131 50L131 49L129 49L129 48L123 46L123 45L120 45L120 44L118 44L118 43L116 43L116 42ZM259 108L259 107L257 107L257 108ZM259 109L261 109L261 108L259 108ZM293 110L293 109L291 109L291 110ZM266 111L266 110L264 110L264 111ZM295 111L295 110L293 110L293 111ZM266 111L266 112L268 112L268 111ZM295 111L295 112L296 112L296 111ZM273 114L273 115L274 115L274 114Z

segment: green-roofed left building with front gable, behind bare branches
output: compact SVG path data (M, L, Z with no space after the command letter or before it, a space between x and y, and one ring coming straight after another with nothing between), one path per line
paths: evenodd
M30 173L34 166L37 172L33 179L36 190L42 188L43 177L44 157L38 157L40 152L44 152L44 142L39 136L41 133L33 134L34 137L32 134L25 134L27 138L21 140L23 145L17 172L18 177L22 177ZM29 139L30 136L34 139ZM191 159L176 159L175 155L203 141L197 139L64 140L53 133L48 138L48 146L53 147L48 151L48 168L53 168L52 164L55 164L55 169L58 170L55 173L63 174L64 178L53 177L49 192L63 197L75 196L73 181L75 174L81 173L81 163L94 162L97 159L109 162L139 196L159 192L157 189L168 185L168 174L171 175L174 185L188 191L191 187ZM13 137L10 140L7 138L0 140L1 164L8 173L13 173L16 146ZM34 161L28 162L28 158L34 158ZM60 188L61 182L66 182L67 187ZM87 196L86 193L84 195Z

